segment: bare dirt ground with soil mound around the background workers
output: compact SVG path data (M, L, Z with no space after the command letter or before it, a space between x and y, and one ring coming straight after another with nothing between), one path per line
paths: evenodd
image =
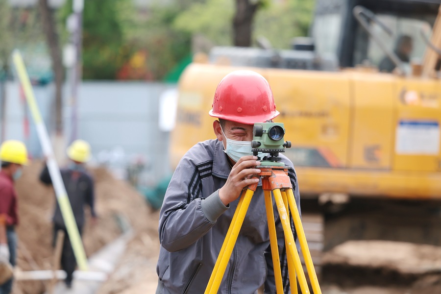
M20 224L17 227L18 270L51 270L53 264L51 217L55 202L53 189L42 185L38 176L42 162L33 162L16 184ZM87 256L117 239L128 223L134 231L121 263L108 283L98 293L123 293L130 285L151 281L156 287L155 263L159 253L158 213L152 212L144 198L124 181L115 179L105 169L91 171L95 179L98 222L86 221L83 243ZM89 213L86 212L86 216ZM18 281L14 294L41 294L49 281ZM143 293L154 293L145 290Z

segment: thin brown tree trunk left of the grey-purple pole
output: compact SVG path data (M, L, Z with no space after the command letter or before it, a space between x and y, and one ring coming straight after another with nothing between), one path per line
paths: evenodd
M61 49L53 11L49 8L48 0L38 0L38 4L41 18L43 20L43 30L48 42L50 58L52 60L52 71L55 79L55 132L57 135L61 135L63 133L62 87L64 80Z

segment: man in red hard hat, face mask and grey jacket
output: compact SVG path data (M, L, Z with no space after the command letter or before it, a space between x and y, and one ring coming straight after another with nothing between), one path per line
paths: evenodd
M260 164L251 152L253 123L279 114L267 80L252 71L235 71L219 83L209 115L215 140L199 142L179 162L159 219L161 249L156 294L204 293L242 190L260 181ZM299 207L293 164L289 175ZM278 218L274 206L274 215ZM293 227L294 230L294 227ZM284 235L276 220L282 279L289 293ZM295 239L296 235L294 234ZM219 293L275 293L264 193L258 186L234 246Z

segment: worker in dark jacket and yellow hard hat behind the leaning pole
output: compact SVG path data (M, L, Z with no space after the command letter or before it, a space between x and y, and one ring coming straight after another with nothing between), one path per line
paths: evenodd
M86 141L74 141L67 149L67 155L71 162L68 168L61 170L61 177L63 178L64 186L66 187L66 192L69 201L71 202L73 215L80 234L85 222L84 206L86 204L90 207L93 224L95 224L97 220L94 208L94 181L84 168L84 163L89 161L91 157L90 149L90 145ZM40 180L47 185L52 183L47 166L41 172ZM54 233L53 246L56 244L58 231L61 230L64 232L65 237L61 254L61 268L66 271L67 274L65 279L66 286L71 288L76 260L58 202L55 206L52 221Z

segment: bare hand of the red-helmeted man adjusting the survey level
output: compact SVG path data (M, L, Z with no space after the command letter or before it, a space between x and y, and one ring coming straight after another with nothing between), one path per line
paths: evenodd
M243 156L231 169L225 185L219 189L219 197L225 206L239 198L246 186L259 182L259 178L251 177L260 173L259 169L252 168L260 165L256 159L257 156L253 155Z

